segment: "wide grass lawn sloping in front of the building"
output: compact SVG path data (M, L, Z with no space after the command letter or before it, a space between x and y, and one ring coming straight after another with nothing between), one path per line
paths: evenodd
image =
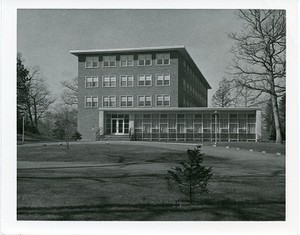
M203 146L209 194L189 205L167 170L188 144L18 146L18 220L282 221L285 157Z

